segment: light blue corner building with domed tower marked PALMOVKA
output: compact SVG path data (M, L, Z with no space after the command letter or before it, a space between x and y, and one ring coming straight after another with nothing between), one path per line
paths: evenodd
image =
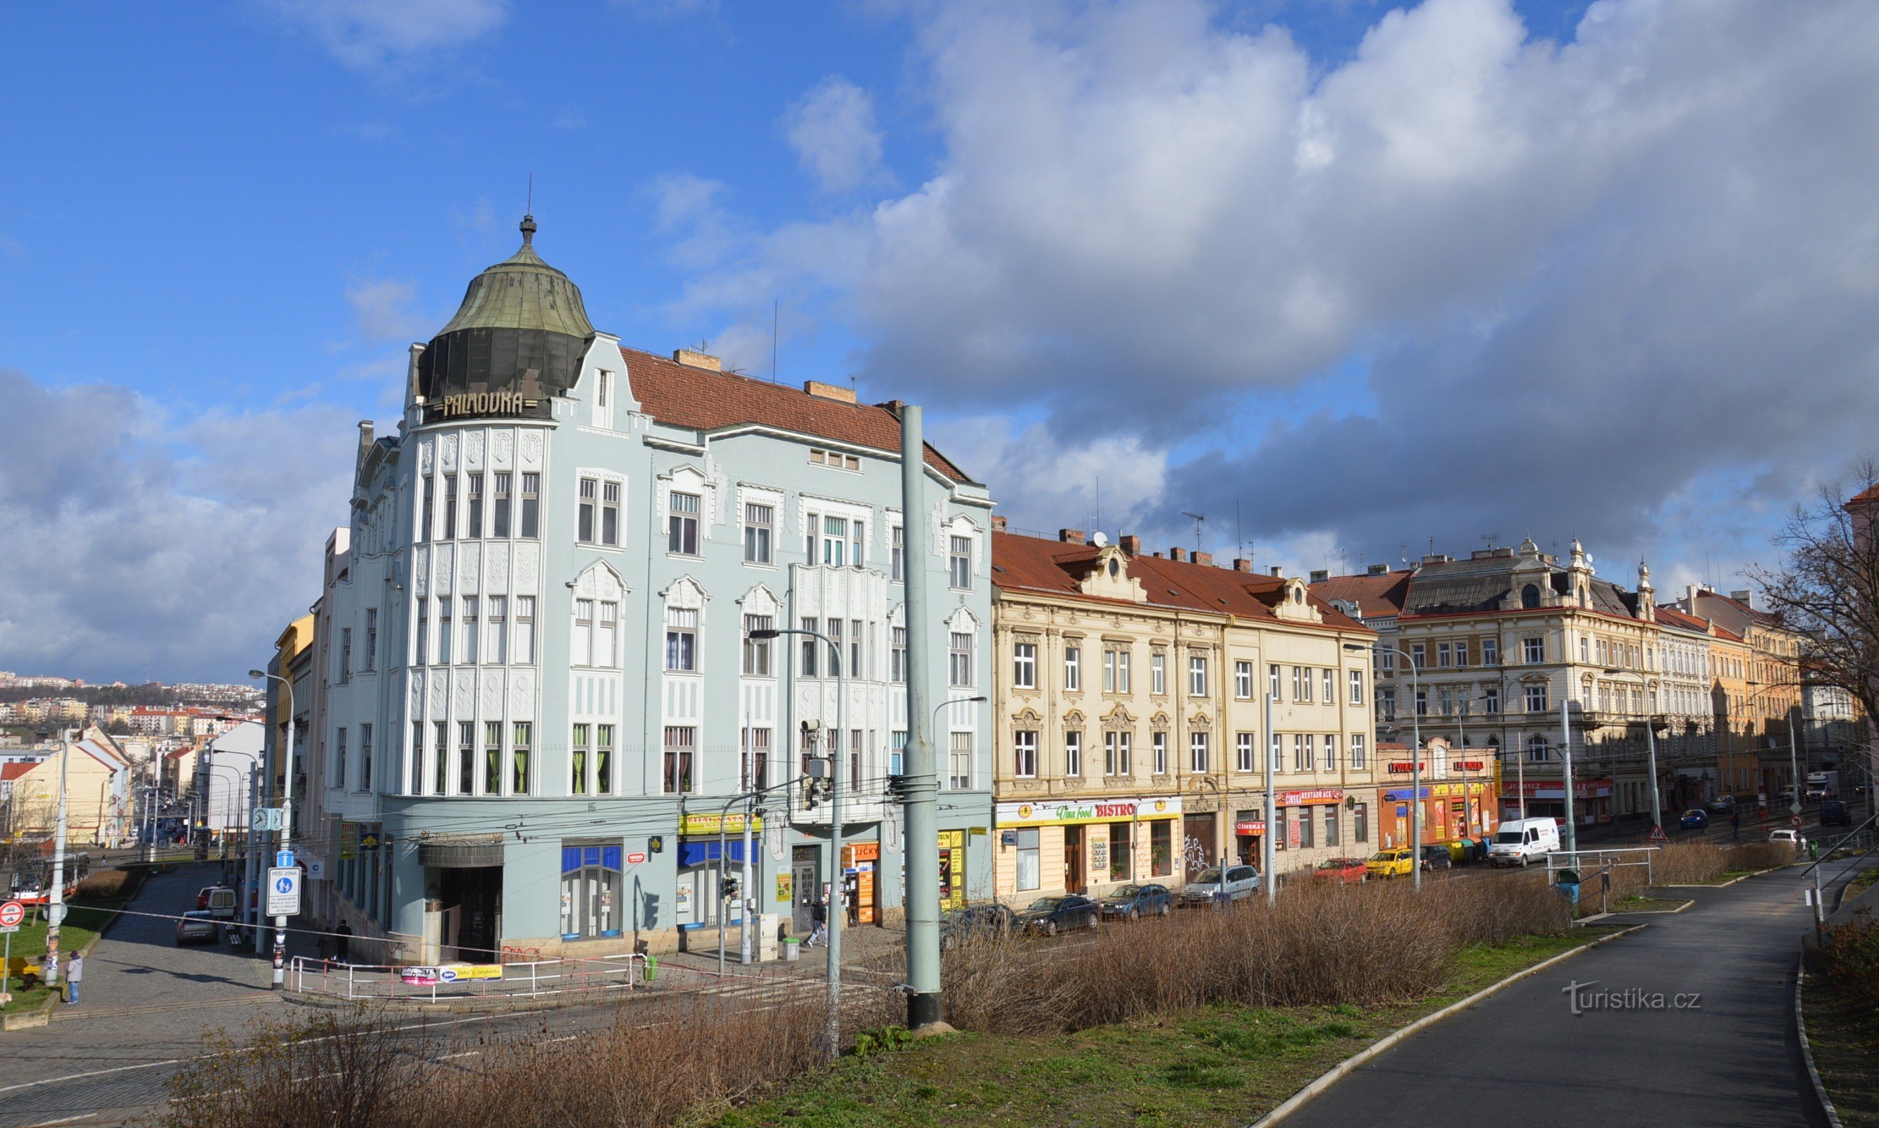
M620 348L534 229L412 348L398 436L361 429L319 605L318 902L419 963L716 946L720 812L737 876L735 797L769 788L752 893L804 934L838 861L804 758L832 746L859 916L893 919L902 577L936 592L928 699L988 697L986 489L928 447L908 521L898 404ZM840 647L846 731L829 647L752 628ZM940 707L953 902L990 895L986 709Z

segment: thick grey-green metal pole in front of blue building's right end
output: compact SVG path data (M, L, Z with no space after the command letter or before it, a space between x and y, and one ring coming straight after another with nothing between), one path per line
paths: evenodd
M926 438L921 410L900 408L900 513L906 556L908 750L902 842L908 887L908 1028L940 1023L940 778L926 713Z

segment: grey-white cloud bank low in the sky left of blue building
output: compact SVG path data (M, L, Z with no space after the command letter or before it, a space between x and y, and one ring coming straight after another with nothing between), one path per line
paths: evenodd
M0 667L241 681L318 594L355 432L333 408L173 417L0 368ZM71 442L85 436L85 442Z

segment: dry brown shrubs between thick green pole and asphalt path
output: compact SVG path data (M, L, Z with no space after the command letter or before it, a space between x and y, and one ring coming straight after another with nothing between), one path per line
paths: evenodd
M1558 932L1563 899L1537 876L1287 887L1270 908L1107 925L1088 942L983 938L943 957L947 1021L1045 1034L1216 1002L1385 1004L1426 995L1464 944Z

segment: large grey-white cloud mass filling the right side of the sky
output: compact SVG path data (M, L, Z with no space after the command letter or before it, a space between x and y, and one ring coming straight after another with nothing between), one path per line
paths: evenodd
M1332 66L1199 0L919 11L926 182L718 244L688 301L834 288L887 395L1172 451L1163 536L1240 502L1377 558L1663 556L1868 453L1879 6L1603 0L1554 43L1426 0ZM1310 410L1349 367L1360 410ZM1058 476L990 483L1056 511Z

